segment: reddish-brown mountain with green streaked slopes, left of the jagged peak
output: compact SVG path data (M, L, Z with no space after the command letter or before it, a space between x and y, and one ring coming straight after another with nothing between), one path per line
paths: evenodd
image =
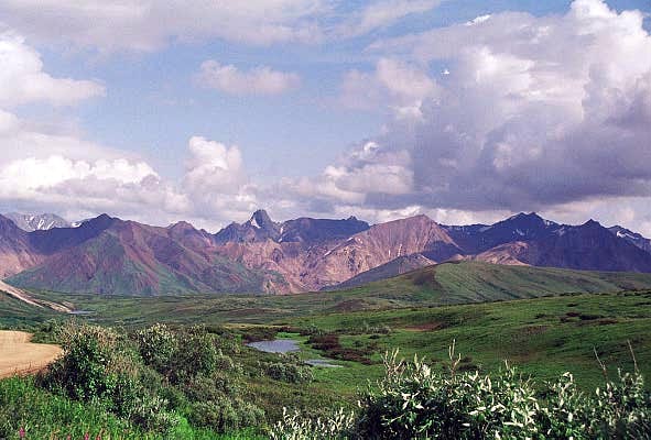
M74 231L66 234L75 237ZM155 228L111 219L105 230L77 245L59 245L42 264L9 280L21 287L120 295L264 292L270 283L283 284L272 274L219 258L202 237L187 224Z

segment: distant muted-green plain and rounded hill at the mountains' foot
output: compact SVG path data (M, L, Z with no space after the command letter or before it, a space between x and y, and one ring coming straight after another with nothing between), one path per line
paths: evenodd
M350 290L293 296L100 297L44 293L95 311L100 323L291 323L294 318L360 310L534 298L566 293L651 289L651 274L446 263ZM39 296L39 294L36 294ZM0 306L1 307L1 306Z

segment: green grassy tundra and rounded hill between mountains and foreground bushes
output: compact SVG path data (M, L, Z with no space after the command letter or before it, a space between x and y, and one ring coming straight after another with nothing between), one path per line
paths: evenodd
M366 353L376 364L345 362L346 369L317 370L316 386L352 398L367 378L379 377L379 361L386 350L400 348L408 356L419 353L441 361L446 359L447 346L454 339L459 351L469 356L465 367L493 370L508 359L539 378L573 371L585 385L600 380L593 348L611 367L630 367L626 345L630 340L641 369L651 377L651 294L620 293L648 288L650 283L651 276L642 274L459 263L428 267L348 292L291 297L57 295L56 299L95 311L86 319L106 324L229 322L243 328L278 324L336 332L344 346ZM571 294L581 290L607 294ZM52 298L52 294L45 296ZM540 296L545 297L504 300ZM436 307L487 300L492 302ZM378 333L382 326L392 331ZM307 349L306 358L327 355ZM273 391L261 392L273 398Z

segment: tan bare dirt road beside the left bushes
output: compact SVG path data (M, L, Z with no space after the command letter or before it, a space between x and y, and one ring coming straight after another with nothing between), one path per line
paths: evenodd
M36 373L63 353L58 345L32 343L31 339L23 331L0 331L0 378Z

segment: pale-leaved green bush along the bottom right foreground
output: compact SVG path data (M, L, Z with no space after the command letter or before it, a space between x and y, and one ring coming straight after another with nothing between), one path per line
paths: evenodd
M593 395L571 374L540 388L508 365L492 375L447 371L414 359L384 359L386 376L366 393L355 417L330 420L285 414L273 439L645 439L651 438L651 394L641 374L619 373ZM333 427L337 426L337 429Z

